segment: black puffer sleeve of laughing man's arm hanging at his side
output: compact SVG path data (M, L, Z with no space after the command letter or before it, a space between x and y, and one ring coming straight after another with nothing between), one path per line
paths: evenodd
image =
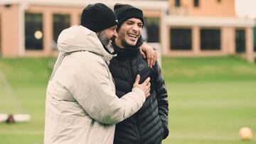
M158 102L159 116L164 126L164 139L169 135L168 128L168 94L164 83L164 77L161 74L159 63L154 65L154 88L156 89L156 99Z

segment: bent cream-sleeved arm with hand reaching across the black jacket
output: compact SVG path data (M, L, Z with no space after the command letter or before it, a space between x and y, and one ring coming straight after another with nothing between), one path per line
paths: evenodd
M134 84L132 92L118 98L111 86L112 80L107 65L87 65L80 70L81 77L73 77L73 84L67 89L70 91L83 109L96 121L114 124L132 116L143 105L146 96L149 96L150 82ZM148 84L149 83L149 84ZM75 84L75 85L74 85Z

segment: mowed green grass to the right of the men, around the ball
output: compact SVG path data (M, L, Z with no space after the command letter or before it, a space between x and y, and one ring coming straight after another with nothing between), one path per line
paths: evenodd
M164 57L169 137L164 144L237 144L256 133L256 65L236 57Z

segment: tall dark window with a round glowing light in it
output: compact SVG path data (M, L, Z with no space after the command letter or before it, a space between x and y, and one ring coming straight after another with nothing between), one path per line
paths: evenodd
M25 13L26 50L43 50L43 14Z

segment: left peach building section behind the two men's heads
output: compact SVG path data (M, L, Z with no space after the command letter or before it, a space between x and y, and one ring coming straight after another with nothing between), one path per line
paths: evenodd
M80 24L82 9L102 2L114 7L131 1L23 0L0 1L1 57L46 57L57 55L56 42L63 29ZM144 11L149 41L159 43L159 23L166 1L134 1Z

